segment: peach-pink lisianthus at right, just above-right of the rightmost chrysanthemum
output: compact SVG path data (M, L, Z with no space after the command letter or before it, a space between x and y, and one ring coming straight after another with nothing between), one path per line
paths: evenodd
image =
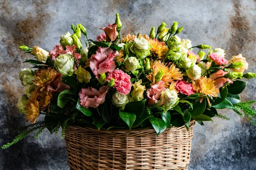
M227 71L218 70L216 73L210 75L210 79L215 80L214 84L217 88L221 88L226 82L233 83L230 79L223 77L226 74L228 74Z

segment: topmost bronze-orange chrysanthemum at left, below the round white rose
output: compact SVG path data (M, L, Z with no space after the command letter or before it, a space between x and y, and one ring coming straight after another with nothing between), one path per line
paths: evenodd
M35 75L33 83L43 91L48 85L52 84L60 74L55 69L48 68L45 70L39 70Z

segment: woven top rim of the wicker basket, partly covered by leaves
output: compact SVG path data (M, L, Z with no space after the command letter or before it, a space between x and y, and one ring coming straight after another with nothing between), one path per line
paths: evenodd
M190 121L190 125L189 127L193 127L195 125L195 120L192 120ZM105 127L102 127L100 128L100 130L98 130L96 127L94 126L89 126L89 125L84 125L84 126L81 126L81 125L72 125L70 127L67 127L66 130L69 130L69 129L72 129L72 128L76 128L76 129L79 129L79 130L89 130L89 131L95 131L95 132L102 132L102 133L127 133L127 132L130 132L130 133L138 133L138 132L151 132L151 131L155 131L154 128L137 128L137 129L131 129L129 130L127 127L125 128L111 128L109 129L108 131L107 128ZM185 126L181 126L181 127L174 127L171 125L171 128L166 128L166 130L168 131L175 131L175 130L179 130L179 129L183 129L185 128ZM165 130L165 131L166 131Z

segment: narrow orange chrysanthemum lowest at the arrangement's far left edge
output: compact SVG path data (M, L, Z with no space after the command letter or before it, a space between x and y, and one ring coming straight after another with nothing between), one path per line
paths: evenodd
M40 114L39 101L37 100L38 96L38 90L33 91L26 104L26 119L29 120L30 123L35 123Z

